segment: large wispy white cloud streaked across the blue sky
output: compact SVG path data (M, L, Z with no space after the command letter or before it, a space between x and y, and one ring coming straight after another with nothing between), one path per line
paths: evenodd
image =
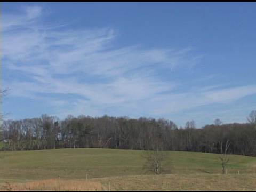
M53 113L166 116L256 94L255 85L180 89L179 70L202 57L193 48L117 49L113 28L51 28L38 22L43 14L42 7L25 7L23 14L3 15L4 84L13 96L44 100ZM161 75L166 71L168 80Z

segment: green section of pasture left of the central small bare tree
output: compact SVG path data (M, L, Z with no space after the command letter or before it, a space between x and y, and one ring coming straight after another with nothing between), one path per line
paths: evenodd
M142 170L140 151L116 149L52 149L2 151L0 174L3 179L80 179L133 175Z

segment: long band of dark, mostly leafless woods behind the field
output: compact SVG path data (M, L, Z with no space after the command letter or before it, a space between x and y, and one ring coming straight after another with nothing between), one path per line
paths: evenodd
M255 115L255 116L254 116ZM38 150L56 148L117 148L152 150L157 142L163 150L221 153L221 144L229 142L228 154L256 155L256 113L245 124L214 124L198 129L194 121L185 127L164 118L90 117L42 115L19 121L2 121L2 150Z

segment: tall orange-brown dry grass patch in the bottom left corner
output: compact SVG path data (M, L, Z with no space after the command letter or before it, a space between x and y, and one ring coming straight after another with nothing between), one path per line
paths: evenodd
M86 180L45 179L27 183L8 183L2 190L12 191L96 191L105 190L99 182Z

